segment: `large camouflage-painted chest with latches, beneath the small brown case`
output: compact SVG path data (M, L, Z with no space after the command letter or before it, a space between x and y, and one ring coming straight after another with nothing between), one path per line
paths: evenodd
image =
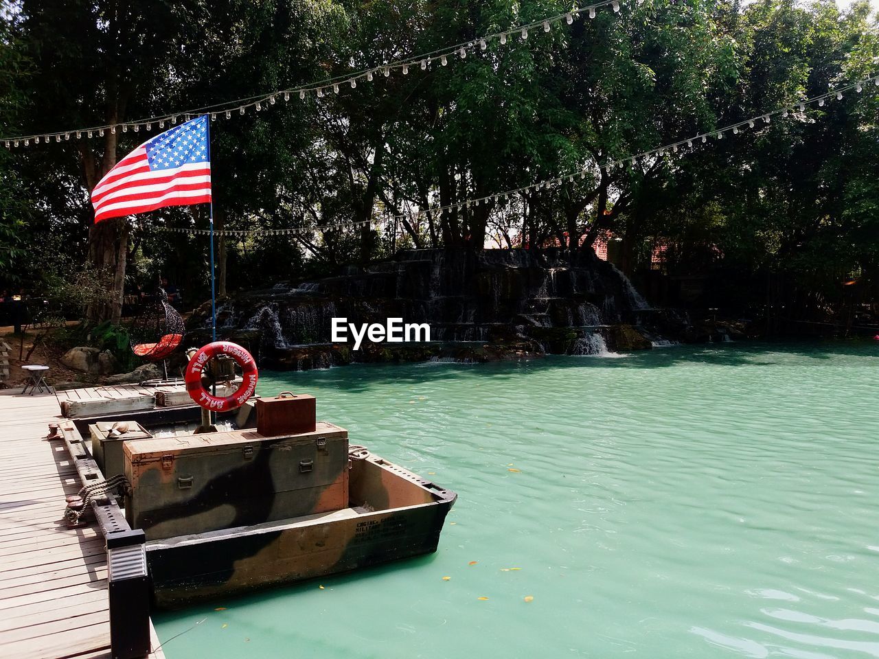
M128 524L148 540L297 518L348 506L348 431L254 431L125 442Z

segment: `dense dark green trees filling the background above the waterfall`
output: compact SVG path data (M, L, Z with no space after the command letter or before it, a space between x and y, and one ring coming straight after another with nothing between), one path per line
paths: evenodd
M86 127L250 98L381 67L561 11L548 0L22 0L4 13L0 113L6 134ZM408 75L212 122L222 228L309 228L226 240L229 288L335 272L396 243L592 249L622 239L629 272L662 245L667 267L706 272L723 258L773 273L813 303L839 278L877 279L879 167L875 94L854 92L788 120L636 166L458 204L559 177L791 105L875 73L868 4L828 0L647 0L549 33L487 44ZM871 30L873 31L871 33ZM731 136L730 136L731 137ZM0 154L0 268L20 277L20 245L89 250L88 191L143 134L104 135ZM207 226L203 208L140 216L118 229L129 277L159 270L207 292L207 244L156 227ZM92 229L93 231L93 229ZM92 235L92 260L96 257ZM117 259L118 260L118 259ZM51 268L47 264L47 268ZM35 284L38 282L34 282ZM799 288L797 289L799 290ZM790 295L799 294L791 289ZM823 296L823 297L822 297Z

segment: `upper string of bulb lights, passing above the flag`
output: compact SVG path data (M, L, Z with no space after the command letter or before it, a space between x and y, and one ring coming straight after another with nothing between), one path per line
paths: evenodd
M638 5L643 4L643 0L635 1ZM341 91L345 89L345 86L349 89L355 89L358 83L364 81L371 83L376 77L389 77L391 73L396 71L400 71L403 73L403 76L407 76L409 75L410 69L426 70L436 62L439 62L440 66L447 66L449 62L454 62L455 59L465 59L469 53L477 53L486 50L491 43L498 43L503 46L514 40L525 41L528 39L529 31L534 32L535 30L542 30L544 33L548 33L552 30L554 25L562 22L571 25L576 18L581 18L584 15L589 18L595 18L597 11L606 10L607 8L610 8L613 10L614 14L617 14L620 11L620 6L620 0L602 0L602 2L596 4L578 7L561 14L556 14L555 16L541 18L531 23L516 25L504 32L485 34L482 37L476 37L474 40L464 41L459 44L454 44L454 46L443 47L430 53L419 54L403 60L395 60L393 62L388 62L387 64L381 64L372 69L361 69L346 74L345 76L336 76L315 83L309 83L303 87L272 91L267 94L249 98L237 98L232 101L224 101L215 105L205 105L185 112L170 112L168 114L149 117L147 119L134 119L116 124L62 130L54 133L21 135L18 137L0 137L0 141L3 141L6 148L21 148L30 146L32 142L33 144L40 144L52 140L56 142L69 141L71 137L76 140L92 138L95 136L103 137L106 131L115 134L117 131L127 133L128 130L132 130L134 133L138 133L141 129L151 131L154 126L163 129L166 123L170 123L173 126L176 125L180 119L188 121L189 119L205 114L210 115L212 120L218 118L232 119L234 116L241 116L250 110L261 112L272 105L276 105L279 99L288 102L290 98L295 97L298 97L301 100L311 96L323 98L330 94L341 93Z

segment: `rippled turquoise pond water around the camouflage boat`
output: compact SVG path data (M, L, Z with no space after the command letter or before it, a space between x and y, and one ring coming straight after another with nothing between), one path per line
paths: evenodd
M877 367L834 343L263 372L458 503L437 554L157 614L165 653L879 657Z

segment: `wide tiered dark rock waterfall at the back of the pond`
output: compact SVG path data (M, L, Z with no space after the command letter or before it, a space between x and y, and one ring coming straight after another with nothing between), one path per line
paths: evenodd
M608 344L630 348L618 347L621 335L608 328L639 324L651 313L639 315L647 302L612 264L590 253L527 250L408 250L392 262L299 286L279 284L221 308L225 336L258 332L245 338L258 341L267 364L297 369L397 358L399 350L408 351L405 359L445 357L440 343L469 344L454 354L478 352L475 361L487 358L483 347L491 349L490 358L541 351L609 356ZM354 353L350 344L331 344L333 317L356 324L391 317L426 322L436 345L366 342Z

